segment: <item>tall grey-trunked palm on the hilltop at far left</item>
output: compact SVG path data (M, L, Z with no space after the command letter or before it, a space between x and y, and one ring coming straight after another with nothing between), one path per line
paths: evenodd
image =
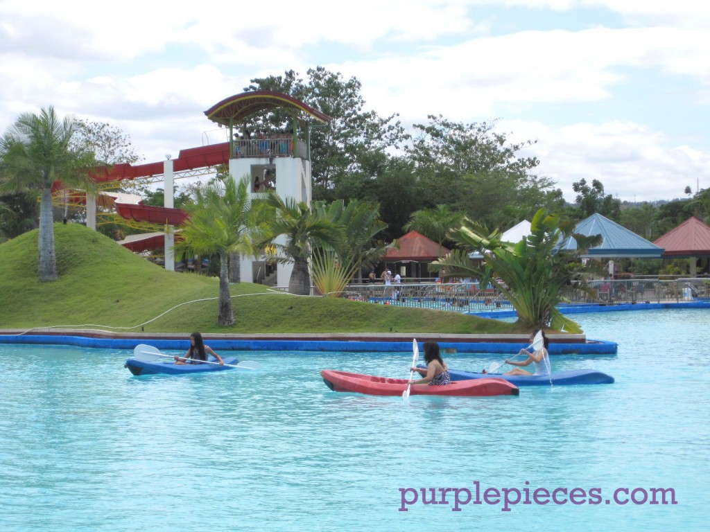
M38 275L40 281L57 278L54 245L52 187L94 191L89 177L95 166L94 155L72 148L76 121L57 116L53 107L38 114L23 113L0 139L0 192L38 190L40 192L40 227L38 243Z

